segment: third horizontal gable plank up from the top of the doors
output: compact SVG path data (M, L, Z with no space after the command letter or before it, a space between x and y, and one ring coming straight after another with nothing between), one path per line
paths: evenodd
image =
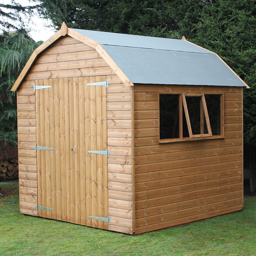
M73 60L85 60L85 59L97 59L101 56L96 50L80 51L80 52L69 52L69 53L58 53L50 55L39 56L35 64L37 63L50 63L59 61L73 61Z

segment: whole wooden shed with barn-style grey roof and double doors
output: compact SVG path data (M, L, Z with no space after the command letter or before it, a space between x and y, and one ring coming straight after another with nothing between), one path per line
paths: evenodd
M20 212L139 234L241 210L243 87L185 39L63 23L12 87Z

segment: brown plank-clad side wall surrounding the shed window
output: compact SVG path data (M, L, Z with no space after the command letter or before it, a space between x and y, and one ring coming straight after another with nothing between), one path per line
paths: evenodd
M159 93L224 96L224 137L159 143ZM243 89L135 85L135 233L242 209Z

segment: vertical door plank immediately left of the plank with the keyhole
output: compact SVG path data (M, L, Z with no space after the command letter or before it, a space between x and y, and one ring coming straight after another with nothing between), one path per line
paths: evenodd
M66 215L70 218L70 152L69 152L69 84L64 78L64 119L65 119L65 173L66 173Z

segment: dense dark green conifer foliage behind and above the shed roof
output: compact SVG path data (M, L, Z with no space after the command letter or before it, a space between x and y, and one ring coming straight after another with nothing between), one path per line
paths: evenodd
M251 87L244 90L245 143L256 144L255 0L39 0L56 28L186 38L216 52Z

